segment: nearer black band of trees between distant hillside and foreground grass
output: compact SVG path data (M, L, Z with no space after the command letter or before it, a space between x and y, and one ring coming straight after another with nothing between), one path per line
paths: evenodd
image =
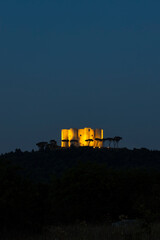
M82 221L160 220L160 172L116 170L79 162L48 183L35 183L0 161L0 232L40 231Z

